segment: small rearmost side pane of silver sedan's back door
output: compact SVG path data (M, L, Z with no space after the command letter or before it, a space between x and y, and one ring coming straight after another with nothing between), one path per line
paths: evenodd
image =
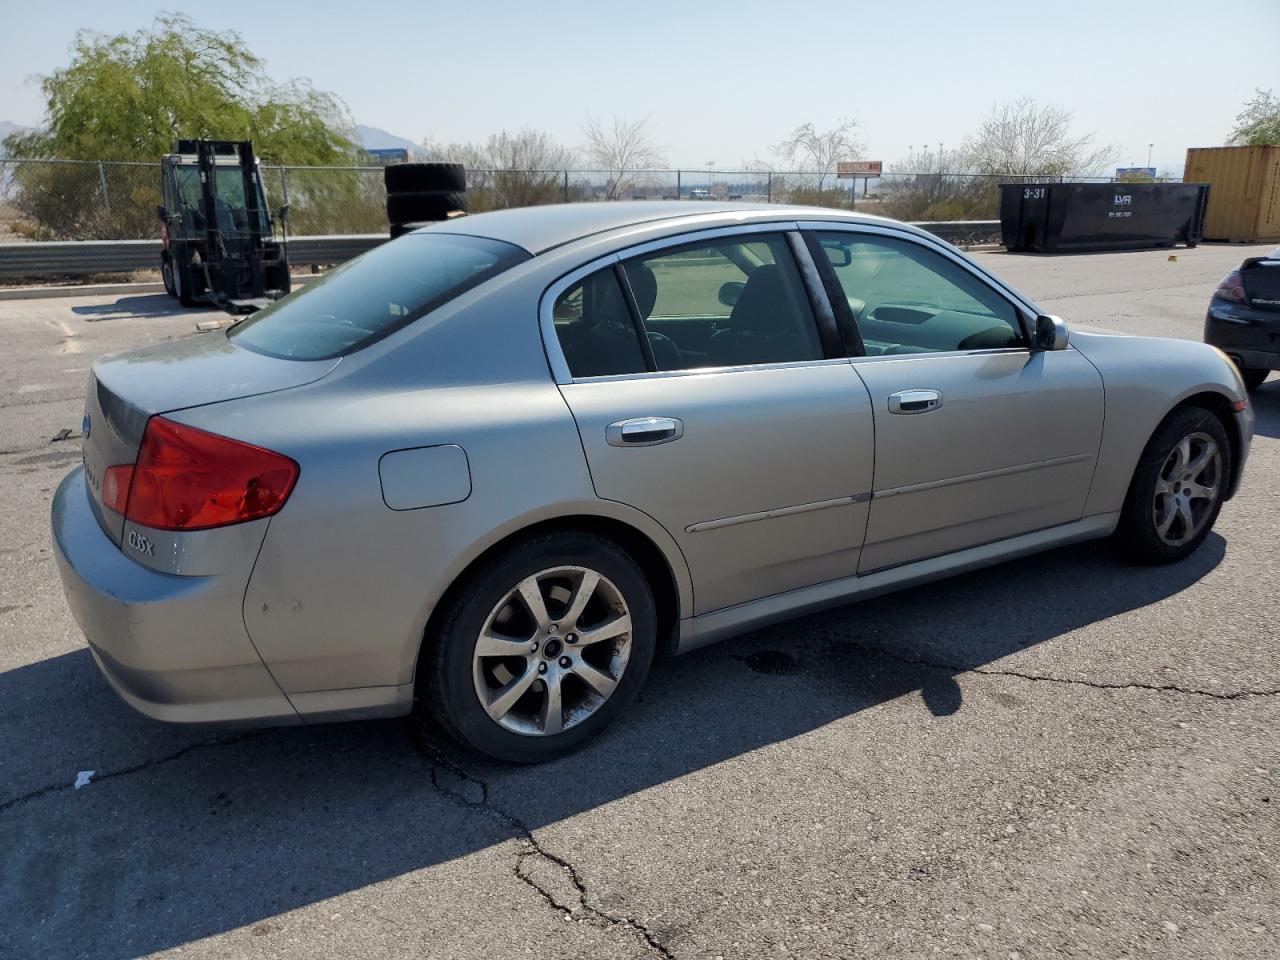
M573 376L639 374L646 369L640 335L612 268L564 291L552 317Z

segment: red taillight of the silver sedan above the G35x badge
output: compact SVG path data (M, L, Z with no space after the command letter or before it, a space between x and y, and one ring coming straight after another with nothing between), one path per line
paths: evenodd
M132 468L105 471L104 500L113 471L125 488L123 500L115 497L127 503L125 518L156 530L207 530L269 517L298 479L298 465L288 457L164 417L147 421Z

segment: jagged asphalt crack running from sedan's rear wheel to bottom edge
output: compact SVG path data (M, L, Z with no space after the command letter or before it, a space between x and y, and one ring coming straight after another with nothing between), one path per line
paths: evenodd
M524 850L516 856L515 876L517 879L524 882L526 886L534 890L541 897L541 900L550 906L553 910L558 911L564 919L572 919L581 922L580 914L585 913L590 922L602 928L614 928L622 927L625 929L635 933L649 950L655 952L658 956L664 957L664 960L675 960L675 954L664 945L658 937L640 920L634 916L617 916L614 914L607 913L598 906L588 902L589 891L586 882L582 879L577 868L572 863L566 860L550 850L544 847L541 842L534 836L534 831L527 823L521 820L515 814L503 810L500 806L495 805L489 799L489 785L474 776L472 773L463 769L461 765L447 758L439 749L430 744L422 741L420 733L413 735L413 744L417 748L422 758L430 764L431 773L431 786L435 787L436 792L442 796L453 800L471 810L480 810L485 813L490 819L497 820L504 828L511 831L524 845ZM465 790L451 787L440 781L442 771L447 771L457 780L462 781L463 786L474 785L479 790L479 797L472 799L467 796ZM561 902L552 891L541 886L526 869L526 864L530 860L543 860L550 864L553 868L561 870L564 877L573 886L577 892L579 906L571 906L568 904Z

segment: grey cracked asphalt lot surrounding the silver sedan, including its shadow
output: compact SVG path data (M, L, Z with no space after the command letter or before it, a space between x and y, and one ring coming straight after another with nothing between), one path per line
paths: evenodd
M978 259L1199 339L1265 250ZM756 631L512 768L403 721L169 727L97 675L47 522L88 367L215 316L0 301L0 957L1280 955L1280 376L1183 563L1084 544Z

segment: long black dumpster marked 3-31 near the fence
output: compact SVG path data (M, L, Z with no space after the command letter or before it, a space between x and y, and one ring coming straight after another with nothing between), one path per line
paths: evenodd
M1002 183L1007 250L1143 250L1204 233L1207 183Z

